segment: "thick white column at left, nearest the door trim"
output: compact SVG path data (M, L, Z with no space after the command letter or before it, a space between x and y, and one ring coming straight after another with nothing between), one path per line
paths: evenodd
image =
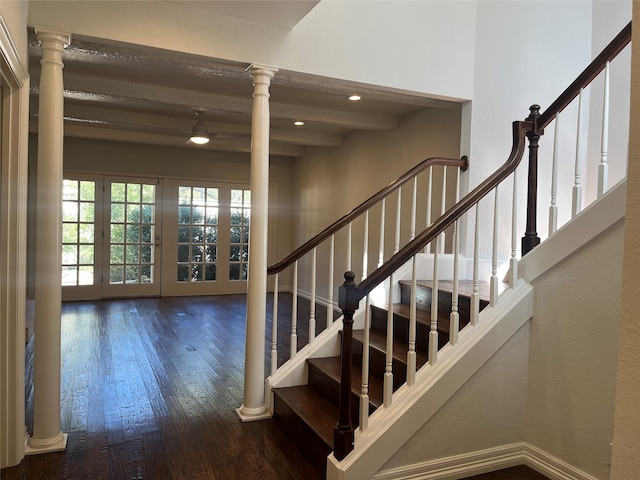
M38 112L33 436L27 454L64 450L60 430L62 310L62 52L69 33L36 27L42 47Z

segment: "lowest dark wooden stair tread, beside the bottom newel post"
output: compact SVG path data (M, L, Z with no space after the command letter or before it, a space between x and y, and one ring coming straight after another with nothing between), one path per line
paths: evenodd
M338 421L338 407L309 385L296 387L274 388L274 395L278 395L323 442L333 447L333 429Z

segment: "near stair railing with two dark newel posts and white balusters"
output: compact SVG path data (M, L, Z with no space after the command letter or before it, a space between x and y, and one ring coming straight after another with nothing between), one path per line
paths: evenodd
M478 273L478 251L479 251L479 231L481 228L479 217L479 204L482 199L487 197L491 192L494 193L493 197L493 215L492 215L492 251L491 251L491 273L489 276L489 305L495 306L498 303L498 292L500 290L500 277L498 275L498 243L499 243L499 207L503 207L502 215L504 215L504 209L510 213L511 221L511 245L510 254L508 256L507 265L509 267L509 288L513 289L516 286L518 279L517 273L517 230L518 230L518 202L520 196L518 195L518 181L516 178L517 167L524 155L526 140L529 141L529 165L528 165L528 181L527 181L527 195L526 195L526 228L525 235L521 240L522 254L526 254L532 248L540 243L540 237L537 233L536 218L537 218L537 173L538 173L538 144L540 137L544 134L544 128L547 127L553 120L556 120L556 149L553 153L553 175L552 175L552 205L550 208L549 219L550 228L549 235L553 234L557 228L557 224L552 223L557 221L557 205L555 203L557 195L557 164L558 164L558 151L557 151L557 139L559 138L557 133L557 118L560 112L562 112L576 97L579 99L582 97L583 90L591 84L591 82L600 74L605 71L605 93L603 104L603 127L602 127L602 153L601 161L598 166L598 195L602 195L607 188L607 148L608 148L608 109L609 109L609 62L613 60L630 42L631 40L631 24L627 25L622 32L605 48L605 50L583 71L583 73L567 88L556 101L554 101L550 107L540 113L540 107L533 105L530 107L530 113L524 121L513 122L512 125L512 149L507 161L502 165L491 177L482 182L471 192L465 195L460 201L449 208L440 218L436 219L431 225L428 225L419 235L406 244L403 248L397 251L388 261L384 262L378 269L370 273L360 283L356 283L356 274L348 269L344 274L344 284L339 288L339 301L338 304L343 313L343 336L342 336L342 368L341 368L341 386L340 386L340 405L339 405L339 419L334 429L334 456L338 461L344 459L349 452L354 448L354 427L351 419L351 362L352 362L352 332L354 314L360 307L360 301L366 299L366 307L364 311L364 325L365 330L369 328L369 305L371 302L371 294L378 286L387 285L388 287L388 319L387 319L387 351L386 351L386 370L384 374L384 387L383 387L383 405L385 408L392 406L393 395L393 371L392 371L392 349L393 349L393 285L394 274L398 270L412 261L411 269L411 297L415 297L416 292L416 256L421 251L424 251L426 245L434 243L435 247L432 249L434 254L434 267L433 267L433 280L432 280L432 300L431 300L431 329L429 332L428 340L428 365L435 365L438 362L438 311L437 311L437 292L439 285L439 272L438 272L438 252L439 242L443 235L443 232L453 226L453 241L454 241L454 271L453 271L453 294L452 294L452 311L450 315L450 331L453 332L449 337L448 343L455 346L458 341L457 337L457 320L458 320L458 304L457 304L457 289L458 289L458 222L467 220L467 224L474 223L474 241L473 241L473 292L471 294L471 307L470 307L470 325L473 327L479 321L479 273ZM580 110L580 109L579 109ZM579 112L580 118L581 112ZM579 124L580 122L578 122ZM580 125L579 129L580 130ZM581 189L581 177L582 171L580 169L583 163L580 155L582 154L580 135L577 138L576 147L576 175L573 186L573 206L572 216L577 215L581 210L581 198L583 192ZM509 178L513 178L512 182L512 198L511 202L500 202L498 189L504 185L504 181ZM510 209L510 211L509 211ZM473 210L473 212L472 212ZM470 216L467 218L465 215ZM502 218L500 215L500 218ZM486 216L483 216L486 218ZM433 298L435 297L435 298ZM435 305L435 309L433 306ZM410 307L410 327L409 327L409 345L407 354L407 384L412 386L416 377L416 352L415 352L415 322L416 322L416 305L412 300ZM363 345L363 351L369 348L367 344L368 336L365 332L365 344ZM390 338L391 337L391 338ZM363 363L366 362L366 356L363 355ZM361 431L368 428L368 365L363 364L362 368L362 394L361 394L361 408L359 425ZM366 407L366 408L365 408Z

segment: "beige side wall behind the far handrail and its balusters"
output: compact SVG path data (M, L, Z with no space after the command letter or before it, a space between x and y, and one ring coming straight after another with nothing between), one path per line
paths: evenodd
M460 112L433 109L408 116L394 132L358 132L346 138L339 148L308 149L294 167L293 245L301 245L420 161L432 156L459 158L459 145ZM438 167L434 174L436 198L441 191L440 172ZM454 177L450 175L448 180L450 184ZM412 189L409 184L402 196L401 230L405 241L409 236ZM418 228L424 228L426 182L420 184L419 190L421 209L417 217L423 220ZM455 191L450 189L449 193L455 194ZM385 259L391 256L394 247L396 205L397 197L392 196L386 208ZM378 261L379 233L373 232L379 232L379 224L380 210L374 209L369 219L369 273ZM356 222L352 234L352 269L358 280L362 274L363 232L363 221ZM328 249L319 249L318 255L323 255L324 260L319 259L317 288L320 295L327 296ZM344 233L336 236L335 265L334 286L337 288L347 265ZM307 277L300 276L299 282L300 288L309 289Z

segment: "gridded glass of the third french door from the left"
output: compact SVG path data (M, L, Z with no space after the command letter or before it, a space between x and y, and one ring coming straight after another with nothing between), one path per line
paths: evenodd
M213 282L217 258L211 252L218 246L218 189L179 186L178 203L176 279L179 283Z

